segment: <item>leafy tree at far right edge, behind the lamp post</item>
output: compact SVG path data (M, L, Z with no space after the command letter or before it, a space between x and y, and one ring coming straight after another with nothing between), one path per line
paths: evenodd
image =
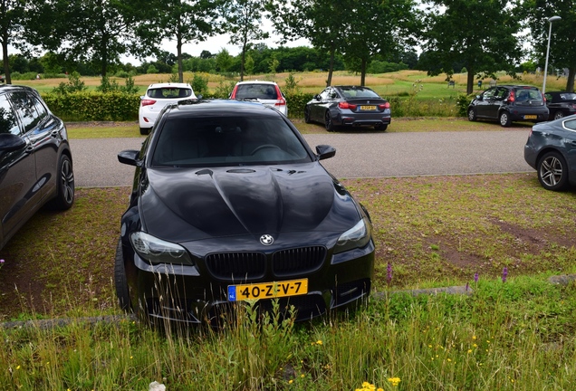
M559 0L527 0L523 3L526 11L526 26L532 35L532 47L535 54L542 59L542 69L548 46L550 24L548 18L561 15L562 19L552 24L549 64L558 68L568 69L566 91L574 91L574 76L576 74L576 1Z

